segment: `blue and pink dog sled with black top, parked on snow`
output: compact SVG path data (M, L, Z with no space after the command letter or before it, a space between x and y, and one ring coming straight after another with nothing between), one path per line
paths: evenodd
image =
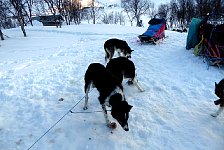
M166 20L164 18L154 17L148 24L148 29L138 36L142 43L157 44L161 39L165 38Z

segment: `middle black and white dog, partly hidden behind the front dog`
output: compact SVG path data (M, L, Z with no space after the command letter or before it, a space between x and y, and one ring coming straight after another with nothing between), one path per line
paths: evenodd
M138 80L136 79L135 65L128 58L113 58L107 63L106 69L109 70L113 75L115 75L120 83L122 83L123 78L128 78L129 84L133 83L139 89L139 91L144 91L140 87L140 85L138 84Z

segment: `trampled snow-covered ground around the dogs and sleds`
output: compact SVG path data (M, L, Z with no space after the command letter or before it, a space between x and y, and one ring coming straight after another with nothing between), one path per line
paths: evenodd
M74 25L3 30L0 41L1 150L223 150L224 113L214 83L223 78L216 67L185 50L186 33L166 31L158 45L137 42L147 27ZM111 132L102 112L83 112L84 73L90 63L104 62L103 44L126 40L145 92L124 82L133 105L129 128ZM99 111L96 89L87 112ZM63 98L63 101L60 101ZM111 115L109 115L112 119ZM114 120L113 120L114 121Z

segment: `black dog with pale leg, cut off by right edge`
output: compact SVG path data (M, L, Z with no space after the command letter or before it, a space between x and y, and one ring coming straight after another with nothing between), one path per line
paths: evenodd
M215 82L215 94L219 97L214 101L215 105L220 105L216 113L211 114L213 117L217 117L224 110L224 79L218 84Z

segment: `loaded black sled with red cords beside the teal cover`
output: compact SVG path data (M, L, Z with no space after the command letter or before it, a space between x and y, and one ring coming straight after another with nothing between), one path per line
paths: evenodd
M210 65L224 64L224 15L208 14L198 27L198 43L194 54Z

